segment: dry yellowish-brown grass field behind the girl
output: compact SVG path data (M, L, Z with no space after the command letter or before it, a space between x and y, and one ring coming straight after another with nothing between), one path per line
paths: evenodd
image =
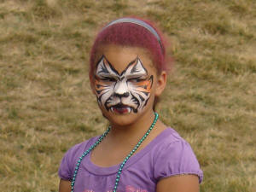
M87 64L124 15L170 38L158 112L194 148L201 192L256 191L255 0L0 0L1 191L57 191L63 154L106 128Z

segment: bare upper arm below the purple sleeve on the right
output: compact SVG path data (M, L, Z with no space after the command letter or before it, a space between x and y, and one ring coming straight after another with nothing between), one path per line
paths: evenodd
M177 175L161 179L156 192L199 192L199 180L196 175Z

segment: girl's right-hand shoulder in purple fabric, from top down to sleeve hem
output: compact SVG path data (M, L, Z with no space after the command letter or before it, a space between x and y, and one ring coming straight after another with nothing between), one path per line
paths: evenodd
M202 180L202 171L190 144L177 131L167 128L154 148L154 177L160 180L183 174L195 174Z

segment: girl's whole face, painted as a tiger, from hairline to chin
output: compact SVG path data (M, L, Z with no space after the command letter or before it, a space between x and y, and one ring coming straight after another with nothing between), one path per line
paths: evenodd
M153 111L157 78L144 49L103 46L93 84L103 115L112 123L127 125Z

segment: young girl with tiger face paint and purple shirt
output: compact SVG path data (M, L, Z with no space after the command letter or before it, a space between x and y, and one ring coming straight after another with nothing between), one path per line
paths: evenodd
M60 192L199 191L193 150L154 112L166 69L165 44L148 21L103 27L90 53L90 85L109 127L67 151Z

